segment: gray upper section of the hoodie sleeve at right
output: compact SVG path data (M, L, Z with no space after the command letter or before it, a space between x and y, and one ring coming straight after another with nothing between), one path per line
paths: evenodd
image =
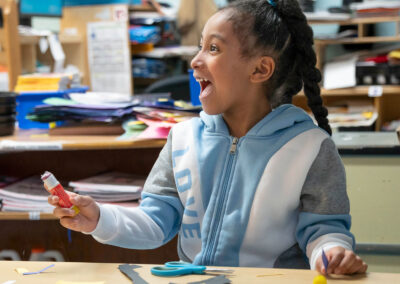
M316 214L348 214L346 173L332 139L325 139L308 172L300 210Z

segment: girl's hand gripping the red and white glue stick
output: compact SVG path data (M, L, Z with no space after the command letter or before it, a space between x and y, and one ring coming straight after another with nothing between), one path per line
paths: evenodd
M53 214L60 219L60 224L67 229L78 232L93 231L100 218L100 208L90 196L82 196L76 193L67 192L71 203L79 208L79 214L73 209L62 208L58 205L58 196L50 195L48 202L55 206Z

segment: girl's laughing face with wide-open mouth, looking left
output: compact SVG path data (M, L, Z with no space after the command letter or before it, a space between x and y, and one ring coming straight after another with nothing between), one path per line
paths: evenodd
M208 20L200 45L191 66L201 86L204 111L220 114L243 110L249 99L254 59L242 57L240 42L226 12L218 12Z

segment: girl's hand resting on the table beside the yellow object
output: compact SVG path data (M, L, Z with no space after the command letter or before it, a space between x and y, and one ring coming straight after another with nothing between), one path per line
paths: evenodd
M328 271L325 271L322 256L315 265L321 274L354 274L367 271L368 265L351 250L338 246L325 251L325 254L329 262Z

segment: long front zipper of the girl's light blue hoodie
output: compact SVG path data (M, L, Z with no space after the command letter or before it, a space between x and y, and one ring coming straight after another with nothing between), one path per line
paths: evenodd
M212 222L212 226L210 228L210 235L208 237L209 242L206 246L205 253L203 256L203 263L205 265L212 265L212 263L211 263L212 252L215 247L217 230L220 227L220 224L222 223L222 219L223 219L222 218L223 216L221 216L222 209L225 208L224 204L226 201L225 199L226 199L227 192L228 192L228 185L229 185L230 177L232 175L232 168L233 168L233 164L234 164L233 162L235 159L235 154L237 151L238 143L239 143L239 138L233 137L232 144L229 148L229 156L228 156L228 162L227 162L227 166L226 166L224 180L222 183L222 190L221 190L221 193L220 193L218 201L217 201L218 205L216 208L214 222Z

